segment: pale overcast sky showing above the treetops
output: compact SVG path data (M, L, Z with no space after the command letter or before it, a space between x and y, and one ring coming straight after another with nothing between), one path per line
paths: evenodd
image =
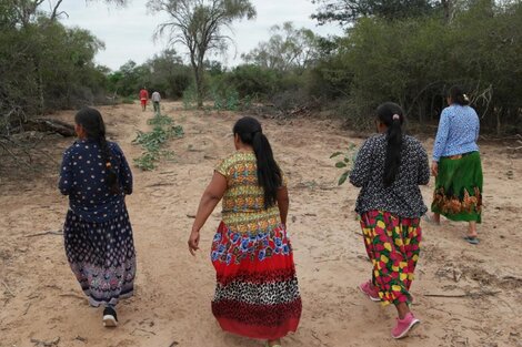
M240 63L241 53L249 52L258 42L268 40L270 27L285 21L293 22L295 28L305 27L322 35L342 32L335 24L318 27L310 18L315 10L310 0L251 1L258 11L257 18L235 22L233 25L237 57L234 58L235 49L231 45L227 57L211 57L213 60L225 65ZM129 60L141 64L167 48L165 40L154 42L152 34L157 25L168 17L163 13L151 14L147 9L147 0L129 0L124 8L107 6L103 1L66 0L60 9L69 14L69 18L62 17L63 24L88 29L104 42L106 50L98 53L96 61L112 70L118 70ZM175 49L184 52L182 47Z

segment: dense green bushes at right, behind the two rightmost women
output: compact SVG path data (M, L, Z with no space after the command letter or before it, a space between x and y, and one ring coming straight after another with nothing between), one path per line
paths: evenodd
M352 123L387 100L400 103L410 119L435 120L449 86L460 84L483 127L513 131L522 105L521 23L520 3L496 7L489 0L462 3L450 22L441 16L362 18L318 72L332 84L343 81Z

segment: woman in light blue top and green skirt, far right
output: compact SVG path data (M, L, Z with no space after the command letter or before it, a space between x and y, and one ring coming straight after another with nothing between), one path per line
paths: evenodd
M482 164L479 153L480 122L461 88L452 86L442 110L433 146L431 172L435 191L428 220L440 224L441 214L451 221L468 222L470 244L479 244L476 223L482 215Z

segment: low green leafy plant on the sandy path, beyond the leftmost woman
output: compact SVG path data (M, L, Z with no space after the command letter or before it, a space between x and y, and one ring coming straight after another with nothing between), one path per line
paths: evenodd
M134 164L143 171L154 170L161 159L172 161L174 152L162 150L162 146L167 141L184 135L183 127L174 125L174 121L168 115L157 113L148 121L148 124L153 126L152 131L138 131L137 137L132 141L133 144L140 144L144 150L141 156L134 159Z

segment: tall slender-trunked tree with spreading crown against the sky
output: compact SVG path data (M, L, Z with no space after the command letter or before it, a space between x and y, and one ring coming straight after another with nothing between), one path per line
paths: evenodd
M149 7L170 16L158 27L157 34L167 34L171 44L181 43L188 49L201 108L207 53L227 49L232 39L223 31L235 20L254 18L253 4L249 0L150 0Z

